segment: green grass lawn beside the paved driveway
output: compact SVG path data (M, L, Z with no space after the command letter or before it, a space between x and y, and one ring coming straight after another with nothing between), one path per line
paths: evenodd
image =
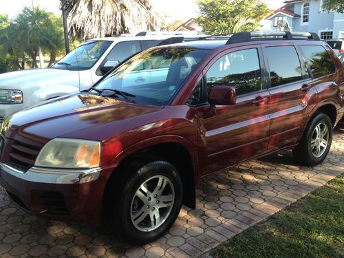
M344 174L233 237L211 255L344 257Z

